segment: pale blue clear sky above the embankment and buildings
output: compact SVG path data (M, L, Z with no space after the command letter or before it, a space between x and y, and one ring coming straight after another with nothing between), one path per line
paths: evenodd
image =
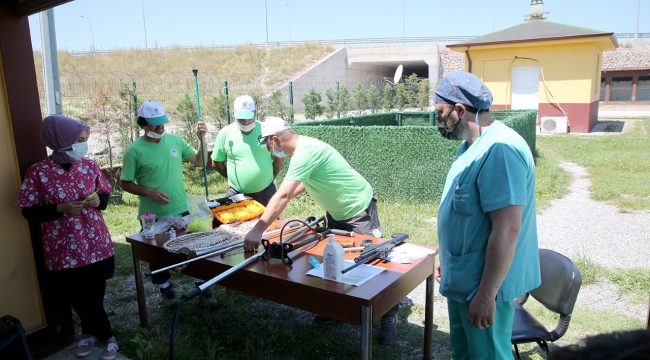
M266 3L266 12L265 12ZM650 32L650 0L546 0L548 21ZM60 50L480 36L521 24L530 0L75 0L54 8ZM265 25L265 14L267 23ZM39 15L29 17L41 49ZM267 30L268 27L268 30ZM649 41L650 39L646 39Z

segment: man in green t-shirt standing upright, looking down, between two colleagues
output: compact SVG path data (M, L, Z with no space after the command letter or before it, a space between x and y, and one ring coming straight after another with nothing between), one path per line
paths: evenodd
M275 194L273 180L284 159L258 146L262 123L254 119L253 98L248 95L236 98L233 109L235 122L221 129L214 141L212 167L228 179L226 197L244 194L266 206Z

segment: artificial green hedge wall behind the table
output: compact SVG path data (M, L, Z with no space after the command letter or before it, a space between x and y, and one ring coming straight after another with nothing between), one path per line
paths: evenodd
M389 126L366 126L389 122L391 116L393 123ZM422 123L424 116L413 116L412 121ZM499 110L493 116L521 134L531 149L535 149L537 111ZM299 135L332 145L384 200L440 201L447 171L460 141L449 141L440 136L437 127L429 125L428 115L424 126L396 126L395 113L354 117L353 124L363 126L350 126L349 118L335 120L347 122L344 126L309 126L316 124L304 122L294 124L293 129ZM321 122L318 125L325 124ZM284 178L289 162L287 159L279 181Z

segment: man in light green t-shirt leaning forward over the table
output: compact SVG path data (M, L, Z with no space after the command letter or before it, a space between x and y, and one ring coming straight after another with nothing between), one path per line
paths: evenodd
M372 187L331 145L297 135L286 121L271 117L262 123L260 143L276 157L291 156L287 175L255 227L246 235L244 248L259 245L264 230L284 211L289 200L307 192L326 211L331 229L383 236ZM381 319L378 341L390 344L397 336L399 304ZM316 316L317 323L333 319Z

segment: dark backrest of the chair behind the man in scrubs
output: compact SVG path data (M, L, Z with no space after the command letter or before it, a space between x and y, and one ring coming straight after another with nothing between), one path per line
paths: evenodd
M566 256L548 249L539 249L542 284L530 295L547 309L571 315L582 285L580 270Z

